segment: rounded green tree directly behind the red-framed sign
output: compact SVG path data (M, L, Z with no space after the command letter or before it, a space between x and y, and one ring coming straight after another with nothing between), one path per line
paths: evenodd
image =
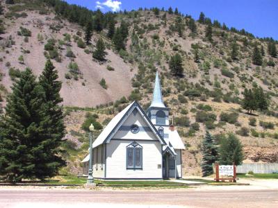
M232 165L233 162L236 166L242 164L243 146L236 135L229 133L222 141L219 148L219 160L222 165Z

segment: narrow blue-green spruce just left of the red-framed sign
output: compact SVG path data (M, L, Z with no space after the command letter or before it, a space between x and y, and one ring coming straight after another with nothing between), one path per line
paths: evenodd
M218 148L215 143L215 139L211 137L211 134L206 130L206 136L202 142L202 176L208 176L213 174L213 163L218 160Z

